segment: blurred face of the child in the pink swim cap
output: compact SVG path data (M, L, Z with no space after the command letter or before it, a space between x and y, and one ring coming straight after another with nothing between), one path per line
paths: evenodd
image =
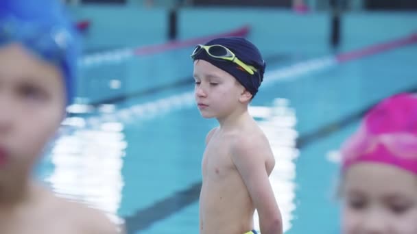
M417 177L385 164L361 163L345 174L345 234L417 233Z

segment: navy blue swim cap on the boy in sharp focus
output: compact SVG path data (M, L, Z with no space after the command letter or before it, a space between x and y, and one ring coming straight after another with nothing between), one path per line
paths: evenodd
M246 70L243 70L239 65L228 60L222 60L215 57L211 57L206 53L204 49L200 53L196 54L193 57L193 60L205 60L217 68L220 68L239 81L243 87L248 90L252 96L257 94L259 86L263 81L263 73L265 73L265 61L263 61L261 52L259 49L252 44L252 42L246 40L245 38L240 37L226 37L226 38L216 38L209 42L206 42L205 45L220 44L233 53L236 57L241 60L244 64L254 66L257 68L257 71L254 72L254 75L250 75Z

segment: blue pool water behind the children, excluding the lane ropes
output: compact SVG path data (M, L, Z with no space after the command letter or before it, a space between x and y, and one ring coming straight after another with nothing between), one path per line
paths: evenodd
M150 33L143 38L138 34L124 38L121 34L133 26L119 28L124 25L119 22L123 19L113 22L119 31L106 38L108 32L103 31L106 25L99 16L110 10L90 10L99 26L86 36L88 48L132 47L135 37L138 38L136 45L163 42L163 29L154 29L157 31L154 40ZM162 13L156 11L145 16L158 18ZM128 12L129 21L137 19L132 16L133 10ZM88 9L78 10L80 18L87 13ZM182 21L188 26L181 27L181 38L207 34L201 27L192 27L190 20L197 14L219 18L226 13L184 10ZM261 86L250 111L273 142L277 166L271 182L283 212L286 233L337 233L337 148L359 121L349 116L386 96L417 88L414 71L417 46L268 81L276 70L331 55L331 49L326 47L328 29L323 25L327 16L294 16L289 12L265 10L265 17L275 17L281 22L272 32L266 25L259 26L262 16L233 11L234 17L239 14L253 18L253 30L257 33L250 34L249 38L259 44L268 64L265 85ZM310 22L309 17L317 29L300 26ZM345 34L350 34L345 37L348 41L343 42L342 51L398 38L412 31L407 25L393 31L372 28L369 20L374 24L394 25L399 25L401 17L417 21L408 14L369 17L348 16ZM291 29L292 34L284 32L290 30L282 23L288 18L298 25ZM163 19L159 18L154 23L163 25L161 22ZM367 25L359 27L363 22ZM216 33L241 23L245 22L219 28L205 25L205 29ZM280 25L283 32L278 31ZM374 36L363 34L367 31L364 27L369 27ZM284 36L280 37L281 34ZM311 40L306 36L311 36ZM51 144L40 164L40 178L61 196L81 200L106 211L116 222L125 222L130 233L198 233L198 189L195 187L201 181L205 135L217 123L203 119L193 103L189 59L192 49L81 66L79 103L107 100L107 104L97 104L67 120L61 138ZM309 134L313 137L305 140Z

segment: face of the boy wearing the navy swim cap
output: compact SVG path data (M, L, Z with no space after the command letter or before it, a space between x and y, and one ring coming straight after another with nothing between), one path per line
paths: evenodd
M252 97L235 77L205 60L194 62L193 77L195 101L204 118L227 116Z

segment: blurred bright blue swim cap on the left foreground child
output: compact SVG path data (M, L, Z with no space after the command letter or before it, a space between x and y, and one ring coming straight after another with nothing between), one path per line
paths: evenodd
M19 42L64 75L67 105L74 96L78 34L60 0L0 0L0 47Z

